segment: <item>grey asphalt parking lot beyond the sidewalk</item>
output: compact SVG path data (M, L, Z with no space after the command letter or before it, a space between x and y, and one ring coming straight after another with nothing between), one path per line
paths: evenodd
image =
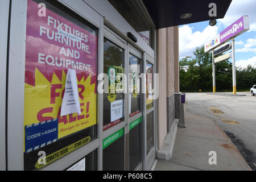
M256 170L256 96L249 92L186 93L187 109L212 118Z

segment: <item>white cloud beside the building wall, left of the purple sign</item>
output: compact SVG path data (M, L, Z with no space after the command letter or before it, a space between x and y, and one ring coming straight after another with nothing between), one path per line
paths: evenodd
M180 58L193 56L196 47L204 45L205 41L214 38L218 34L217 26L208 26L203 32L192 32L192 27L184 25L179 28Z

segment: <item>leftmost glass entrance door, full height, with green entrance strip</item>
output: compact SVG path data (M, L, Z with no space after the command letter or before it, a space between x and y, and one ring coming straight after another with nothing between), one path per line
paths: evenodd
M126 46L118 42L108 30L105 31L105 36L107 37L104 37L104 73L109 78L109 93L104 93L103 96L103 131L106 138L102 141L102 170L121 171L125 169L125 129L124 125L120 125L125 121L125 97L119 91L123 88Z

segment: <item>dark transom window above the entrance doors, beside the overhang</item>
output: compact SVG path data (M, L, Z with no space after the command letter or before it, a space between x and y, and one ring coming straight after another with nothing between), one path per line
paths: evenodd
M148 23L147 17L134 0L108 0L119 14L138 32L139 36L154 48L152 44L152 26Z

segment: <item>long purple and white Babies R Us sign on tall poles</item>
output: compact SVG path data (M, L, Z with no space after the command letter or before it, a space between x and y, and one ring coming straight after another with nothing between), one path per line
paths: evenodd
M249 16L241 16L241 18L236 20L236 22L230 24L228 28L225 28L224 31L220 32L220 34L218 34L216 38L208 41L204 45L204 52L206 53L212 51L213 48L221 46L222 44L228 42L232 38L235 38L236 36L242 34L243 32L246 32L249 29Z

